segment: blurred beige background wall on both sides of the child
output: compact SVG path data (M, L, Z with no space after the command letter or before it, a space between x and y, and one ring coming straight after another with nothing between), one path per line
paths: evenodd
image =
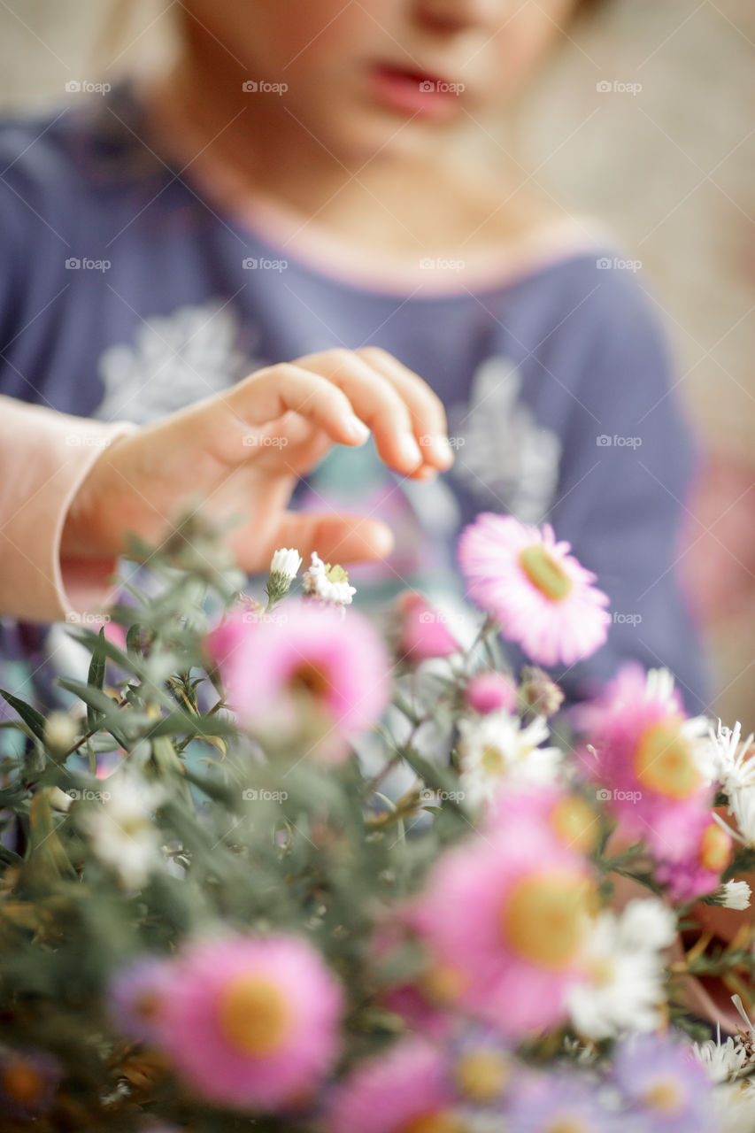
M169 0L0 0L0 109L159 62ZM533 84L502 145L643 264L704 467L682 569L724 722L755 729L755 3L609 0ZM80 95L79 95L80 97Z

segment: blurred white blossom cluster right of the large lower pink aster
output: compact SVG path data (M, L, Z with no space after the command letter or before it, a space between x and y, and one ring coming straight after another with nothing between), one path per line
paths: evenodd
M673 936L662 909L655 898L641 900L630 902L620 917L604 912L596 918L584 951L586 978L567 996L569 1015L580 1034L609 1039L660 1025L664 998L660 949ZM639 936L643 926L648 929L647 938Z

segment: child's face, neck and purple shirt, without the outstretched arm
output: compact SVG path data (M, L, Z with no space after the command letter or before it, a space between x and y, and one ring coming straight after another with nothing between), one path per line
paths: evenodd
M184 0L169 74L0 134L0 390L144 424L263 365L383 348L444 403L457 459L423 483L339 449L299 492L393 529L359 595L458 589L480 511L548 519L613 612L554 678L577 699L636 657L698 708L675 581L693 451L653 314L600 236L463 156L577 7Z

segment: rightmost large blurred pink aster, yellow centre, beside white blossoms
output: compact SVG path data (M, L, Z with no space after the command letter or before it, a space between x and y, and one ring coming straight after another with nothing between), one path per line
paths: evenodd
M713 792L669 674L623 665L584 718L601 794L622 833L644 840L662 859L693 853Z

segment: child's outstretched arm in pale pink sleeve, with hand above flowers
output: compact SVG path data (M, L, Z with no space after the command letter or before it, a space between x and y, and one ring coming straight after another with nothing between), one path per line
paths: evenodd
M229 544L247 571L266 569L279 546L378 557L391 545L383 523L287 511L298 477L333 443L360 444L365 426L404 475L425 478L452 460L440 401L371 349L271 366L143 429L3 400L0 470L11 489L1 512L0 611L34 621L104 603L128 535L160 542L198 503L221 521L241 518Z

